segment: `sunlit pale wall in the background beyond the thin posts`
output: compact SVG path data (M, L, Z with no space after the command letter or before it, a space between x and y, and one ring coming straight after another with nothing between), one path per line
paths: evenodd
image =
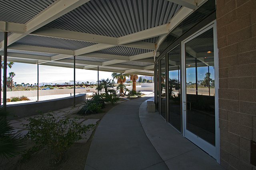
M86 90L90 90L93 92L95 88L76 88L76 93L85 93ZM52 89L52 90L39 90L39 96L48 96L48 95L56 95L56 94L69 94L74 93L74 89ZM26 90L26 91L12 91L6 92L6 98L11 97L20 97L20 96L27 96L27 97L34 97L37 96L37 90ZM3 92L2 92L3 97Z

